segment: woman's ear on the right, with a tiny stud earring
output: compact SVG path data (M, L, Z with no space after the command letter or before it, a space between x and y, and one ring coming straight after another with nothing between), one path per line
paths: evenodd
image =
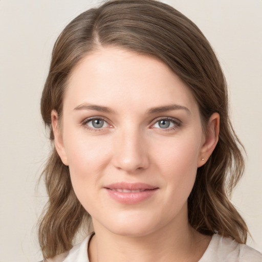
M204 135L203 144L200 150L198 167L203 166L211 156L217 141L219 141L220 115L213 113L207 124L207 133Z

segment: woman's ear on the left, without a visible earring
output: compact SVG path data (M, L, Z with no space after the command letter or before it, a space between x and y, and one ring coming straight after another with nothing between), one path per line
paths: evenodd
M55 137L55 148L64 165L68 166L68 158L65 153L61 128L58 123L58 114L55 110L51 112L52 128Z

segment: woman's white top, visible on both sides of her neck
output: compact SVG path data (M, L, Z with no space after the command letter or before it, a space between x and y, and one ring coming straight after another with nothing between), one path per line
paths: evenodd
M69 252L57 255L48 262L90 262L88 245L92 234ZM214 234L199 262L262 262L262 254L253 248L238 244L231 238Z

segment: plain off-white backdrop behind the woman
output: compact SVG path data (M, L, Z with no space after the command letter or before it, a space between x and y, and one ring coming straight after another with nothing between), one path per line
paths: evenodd
M194 21L211 42L228 80L230 113L247 151L232 201L262 251L262 1L163 1ZM36 189L49 151L39 100L51 50L88 0L0 0L0 262L39 261L36 223L47 201Z

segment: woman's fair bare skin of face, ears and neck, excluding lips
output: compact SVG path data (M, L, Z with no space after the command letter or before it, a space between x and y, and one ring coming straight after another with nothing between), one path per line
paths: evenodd
M162 112L150 111L155 107ZM102 127L95 128L90 118L103 119ZM187 198L197 168L217 143L219 115L210 117L204 134L197 102L166 64L116 47L99 48L73 70L61 122L52 111L52 125L77 198L93 219L92 262L201 258L210 237L188 224ZM145 201L123 204L104 189L116 182L157 190Z

